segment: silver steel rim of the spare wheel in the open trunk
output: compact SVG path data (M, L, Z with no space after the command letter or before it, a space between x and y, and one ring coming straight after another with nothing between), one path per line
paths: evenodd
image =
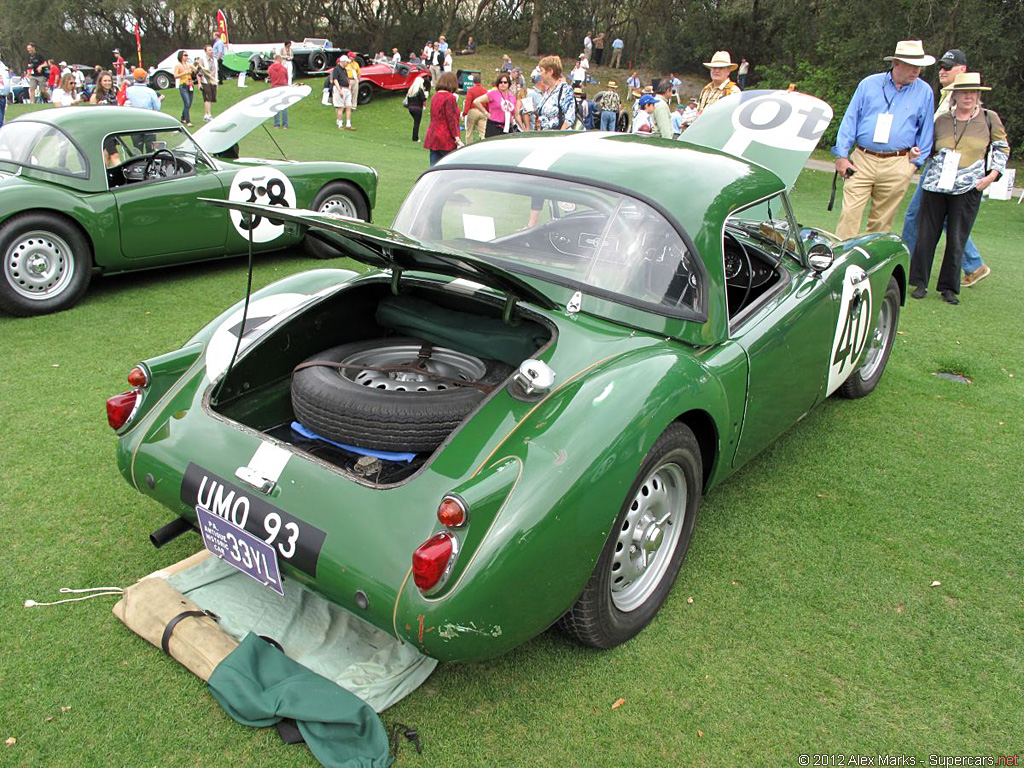
M350 354L342 360L342 364L368 368L415 365L421 348L419 344L395 344L394 346L368 349ZM430 350L430 358L426 361L425 368L435 376L467 382L479 381L487 372L487 367L478 357L444 347L434 347ZM356 368L339 369L339 373L349 381L368 389L380 389L387 392L443 392L459 388L458 384L437 381L423 374L359 371Z

